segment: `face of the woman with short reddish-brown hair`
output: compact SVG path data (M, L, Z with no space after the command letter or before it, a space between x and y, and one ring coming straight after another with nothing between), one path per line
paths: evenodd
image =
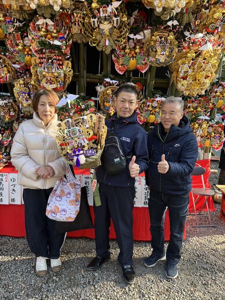
M55 113L55 106L49 100L48 96L41 95L37 105L37 113L41 121L43 121L46 126L48 122L52 119Z

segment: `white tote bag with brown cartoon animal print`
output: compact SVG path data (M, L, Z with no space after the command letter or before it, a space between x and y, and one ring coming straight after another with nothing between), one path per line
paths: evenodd
M73 176L69 166L66 166L64 177L60 177L47 201L46 216L62 222L72 222L80 206L80 182Z

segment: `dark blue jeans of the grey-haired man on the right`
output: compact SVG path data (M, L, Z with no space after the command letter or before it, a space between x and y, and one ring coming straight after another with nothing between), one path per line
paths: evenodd
M169 195L150 190L148 209L152 254L164 253L164 216L165 208L169 211L170 238L166 250L168 262L177 264L181 257L183 230L188 212L189 195Z

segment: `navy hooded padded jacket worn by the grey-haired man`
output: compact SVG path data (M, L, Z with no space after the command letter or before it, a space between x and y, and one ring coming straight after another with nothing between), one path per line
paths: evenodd
M190 173L198 153L196 137L185 115L178 126L170 126L167 134L163 129L162 124L159 123L148 133L149 163L145 171L146 184L155 191L185 195L192 186ZM165 160L169 164L165 174L157 170L157 163L161 161L162 154L165 154Z

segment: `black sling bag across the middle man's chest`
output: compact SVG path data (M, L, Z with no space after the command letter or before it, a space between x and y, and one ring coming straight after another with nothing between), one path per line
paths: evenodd
M113 124L110 128L112 127ZM110 130L107 131L101 157L104 161L106 172L109 175L120 173L125 169L126 157L123 154L120 140Z

